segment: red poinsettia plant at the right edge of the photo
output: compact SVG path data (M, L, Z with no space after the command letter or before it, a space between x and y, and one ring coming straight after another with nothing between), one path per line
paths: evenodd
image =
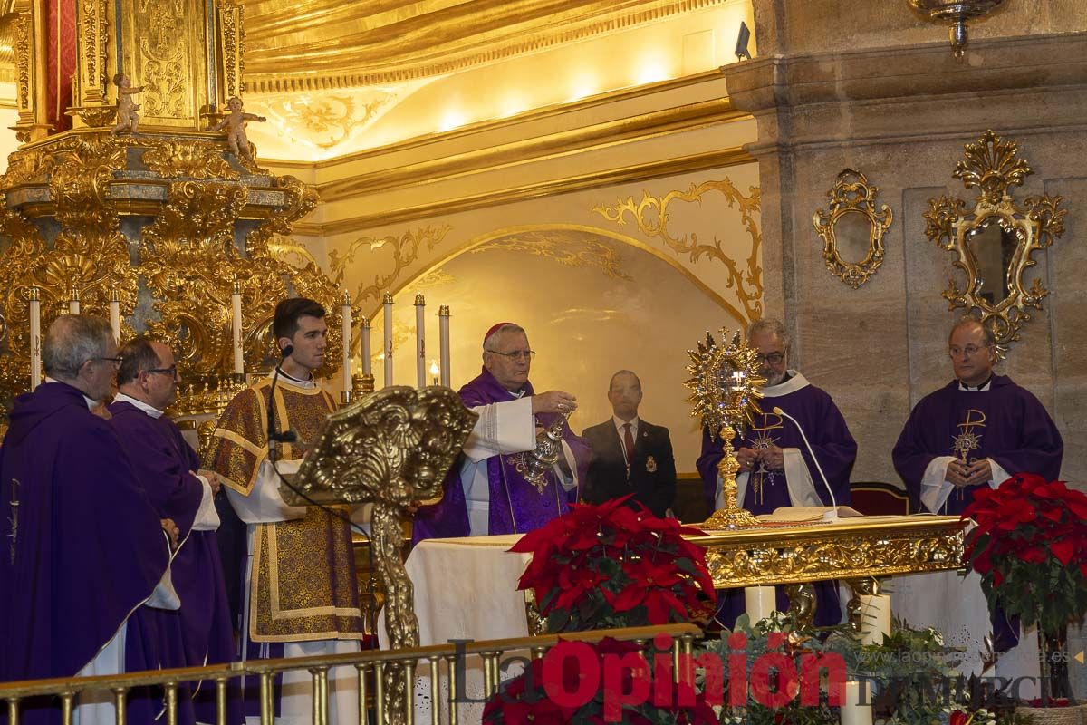
M1015 474L974 493L963 511L977 526L965 558L989 604L1050 636L1087 613L1087 496L1064 482Z

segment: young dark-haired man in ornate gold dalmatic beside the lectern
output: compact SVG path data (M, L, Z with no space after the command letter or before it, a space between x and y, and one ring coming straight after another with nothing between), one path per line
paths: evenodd
M324 317L324 308L313 300L279 302L272 322L283 354L275 400L270 402L270 375L230 401L214 434L211 467L223 476L230 504L248 524L246 657L355 652L363 636L350 524L322 508L288 507L279 493L280 474L298 471L321 424L336 410L332 396L313 377L325 360ZM274 464L266 427L271 405L276 433L297 436L293 442L274 443ZM348 513L346 507L334 510ZM358 722L354 668L338 667L328 680L329 723ZM255 682L247 680L250 686L255 689ZM285 674L278 722L309 723L311 707L310 673Z

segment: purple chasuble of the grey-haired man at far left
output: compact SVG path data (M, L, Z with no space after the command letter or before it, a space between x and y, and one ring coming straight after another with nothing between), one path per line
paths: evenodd
M159 518L79 390L16 399L0 449L0 680L72 677L98 655L166 571Z

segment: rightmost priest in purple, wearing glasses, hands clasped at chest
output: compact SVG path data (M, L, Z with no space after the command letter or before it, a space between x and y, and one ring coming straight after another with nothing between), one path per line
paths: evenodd
M948 352L954 379L921 399L892 451L913 510L958 515L973 501L974 491L997 488L1012 474L1059 478L1061 434L1037 398L1010 377L994 374L992 332L973 316L962 317L948 336ZM947 605L933 608L934 615L944 616L961 601L955 588L926 589L928 602L948 596ZM920 616L915 623L937 624ZM991 625L995 651L1015 646L1017 622L1009 622L998 609ZM960 630L970 624L948 626Z

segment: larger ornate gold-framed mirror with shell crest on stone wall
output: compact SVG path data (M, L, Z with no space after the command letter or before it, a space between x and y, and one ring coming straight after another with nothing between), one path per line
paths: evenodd
M978 197L966 211L966 202L949 197L930 199L925 213L925 235L941 249L954 252L952 265L965 276L961 286L952 276L942 296L948 309L980 312L982 324L992 330L1003 357L1021 339L1028 308L1041 309L1049 293L1041 279L1029 285L1026 271L1037 264L1032 255L1064 234L1066 209L1062 197L1030 196L1015 203L1009 187L1021 186L1033 174L1026 160L1017 158L1019 145L1004 141L990 129L976 143L966 145L965 161L955 166L955 178Z

